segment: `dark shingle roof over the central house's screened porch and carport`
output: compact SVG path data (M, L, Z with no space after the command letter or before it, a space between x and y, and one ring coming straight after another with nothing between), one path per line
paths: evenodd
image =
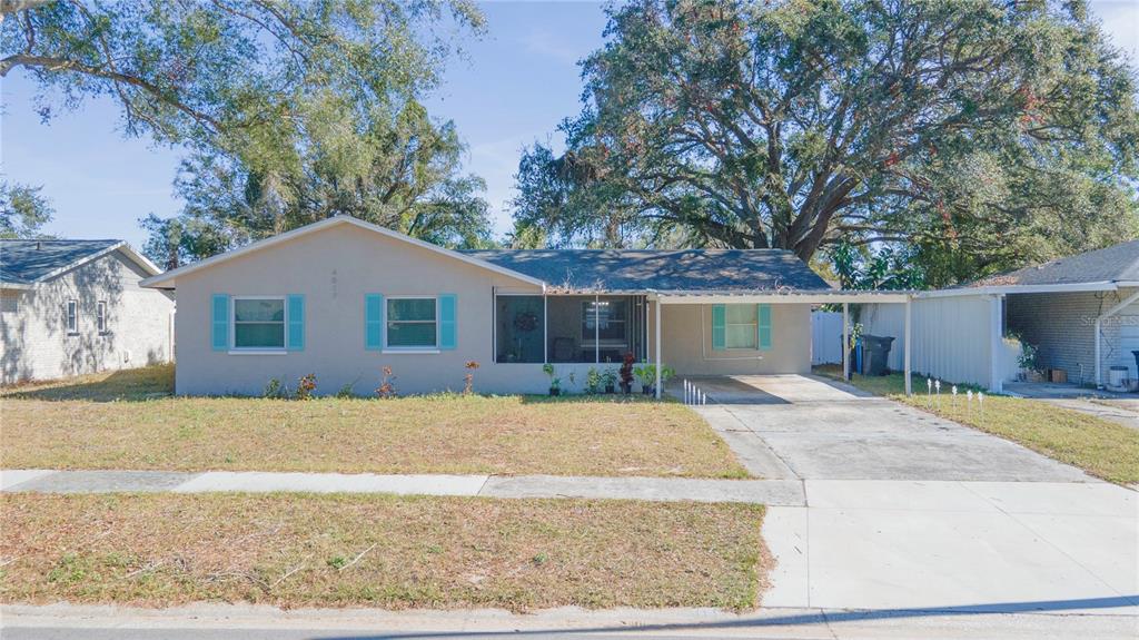
M609 292L759 292L829 289L781 249L499 249L466 251L556 289Z

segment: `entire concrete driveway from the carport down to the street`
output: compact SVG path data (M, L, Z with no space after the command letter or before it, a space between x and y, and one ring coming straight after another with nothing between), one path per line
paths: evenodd
M823 378L695 381L754 474L803 483L765 606L1139 616L1134 492Z

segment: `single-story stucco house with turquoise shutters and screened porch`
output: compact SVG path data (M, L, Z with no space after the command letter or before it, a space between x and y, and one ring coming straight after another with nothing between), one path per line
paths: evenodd
M451 251L334 216L147 278L177 289L179 394L462 387L544 393L590 369L664 362L681 376L805 374L812 305L904 302L831 289L785 251Z

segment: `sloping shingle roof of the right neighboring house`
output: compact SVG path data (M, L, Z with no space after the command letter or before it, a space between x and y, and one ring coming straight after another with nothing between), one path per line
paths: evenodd
M1139 240L992 276L973 287L1139 281Z

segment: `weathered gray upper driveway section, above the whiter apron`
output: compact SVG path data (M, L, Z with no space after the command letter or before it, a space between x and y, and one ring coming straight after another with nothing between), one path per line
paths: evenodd
M753 469L763 477L1092 481L1018 444L825 378L736 376L697 384L715 425L756 435L773 453L771 466Z

